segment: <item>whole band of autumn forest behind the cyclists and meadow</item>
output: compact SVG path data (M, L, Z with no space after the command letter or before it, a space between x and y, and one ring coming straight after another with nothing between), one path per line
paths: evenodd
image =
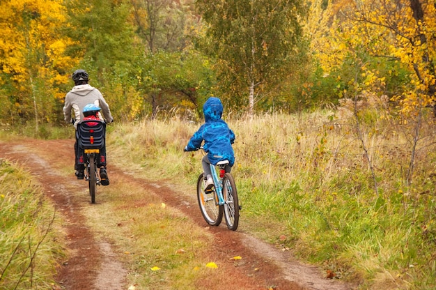
M2 123L63 123L77 68L116 121L301 112L382 100L419 112L435 95L434 1L26 1L0 3ZM110 20L110 21L108 21Z

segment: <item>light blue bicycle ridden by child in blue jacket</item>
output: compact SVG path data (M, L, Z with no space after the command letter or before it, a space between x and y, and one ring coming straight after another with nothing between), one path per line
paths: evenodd
M235 231L238 229L240 206L235 180L230 173L226 173L226 165L228 160L220 161L215 166L210 164L214 182L211 190L205 191L204 174L198 176L197 198L201 214L208 224L218 226L224 212L228 229Z

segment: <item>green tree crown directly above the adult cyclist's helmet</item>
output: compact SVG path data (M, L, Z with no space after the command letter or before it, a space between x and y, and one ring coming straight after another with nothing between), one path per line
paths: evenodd
M70 54L91 62L89 68L98 68L97 73L110 70L118 61L132 61L133 26L127 22L130 7L125 1L72 0L67 5L65 32L75 41L68 48Z

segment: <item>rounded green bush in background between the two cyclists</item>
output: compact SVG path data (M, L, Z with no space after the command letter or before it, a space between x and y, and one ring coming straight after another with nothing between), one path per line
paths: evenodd
M201 54L159 52L144 59L138 87L147 95L143 103L152 105L153 116L178 107L181 116L197 119L213 82L210 62Z

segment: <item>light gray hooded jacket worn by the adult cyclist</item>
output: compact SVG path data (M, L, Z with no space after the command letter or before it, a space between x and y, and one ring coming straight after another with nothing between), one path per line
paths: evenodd
M84 119L82 113L84 107L91 103L102 109L100 111L100 119L102 119L102 121L106 121L106 123L114 121L109 105L107 105L107 102L104 100L102 93L90 84L79 84L78 86L74 86L65 96L65 105L63 106L65 122L71 122L71 112L73 111L75 128L77 128L77 123Z

